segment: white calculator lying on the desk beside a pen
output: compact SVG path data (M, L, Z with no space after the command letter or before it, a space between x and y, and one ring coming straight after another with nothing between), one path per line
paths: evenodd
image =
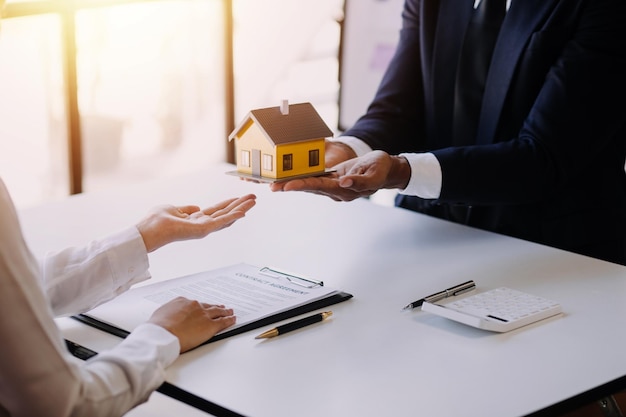
M557 302L506 287L451 298L445 304L424 302L422 310L493 332L508 332L561 313Z

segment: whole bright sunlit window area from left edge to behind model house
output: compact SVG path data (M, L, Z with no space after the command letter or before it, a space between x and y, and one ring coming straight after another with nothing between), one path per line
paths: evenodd
M337 125L343 0L232 0L232 50L230 1L108 3L7 0L0 176L18 207L226 161L229 125L282 99Z

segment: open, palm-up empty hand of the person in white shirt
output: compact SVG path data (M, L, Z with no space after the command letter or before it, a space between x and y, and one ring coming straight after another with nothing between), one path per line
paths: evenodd
M224 229L246 215L256 204L256 196L248 194L224 200L211 207L163 205L154 208L137 224L148 252L168 243L200 239Z

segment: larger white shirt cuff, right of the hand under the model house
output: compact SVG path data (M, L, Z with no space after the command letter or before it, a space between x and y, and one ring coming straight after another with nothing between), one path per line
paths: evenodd
M439 198L441 194L441 165L430 152L401 153L411 166L411 179L400 194L416 195L421 198Z

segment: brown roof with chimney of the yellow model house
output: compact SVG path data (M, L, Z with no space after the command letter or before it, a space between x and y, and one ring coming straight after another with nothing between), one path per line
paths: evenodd
M251 110L228 140L234 139L250 119L274 145L333 136L311 103L283 103L282 106Z

